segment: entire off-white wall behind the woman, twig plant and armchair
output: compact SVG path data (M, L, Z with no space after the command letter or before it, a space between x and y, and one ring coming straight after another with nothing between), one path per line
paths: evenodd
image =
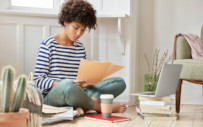
M135 97L129 96L129 93L144 88L144 74L147 72L144 54L152 56L155 48L161 48L162 51L169 49L172 53L176 33L199 34L203 25L203 1L132 0L130 3L130 16L125 17L125 55L121 55L116 17L99 18L98 29L86 33L82 41L88 59L108 59L125 66L114 75L123 77L127 83L126 91L117 100L133 104ZM53 16L0 14L0 67L10 63L17 68L18 74L33 71L37 48L42 39L60 29ZM201 86L187 84L183 85L182 102L203 104ZM189 92L190 89L193 91ZM188 98L195 99L191 101Z

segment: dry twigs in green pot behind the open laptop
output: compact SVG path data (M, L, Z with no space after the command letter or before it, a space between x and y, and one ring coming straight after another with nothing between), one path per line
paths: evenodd
M163 55L159 59L160 49L155 49L153 55L152 68L150 67L150 62L145 54L145 59L147 61L148 73L144 75L144 88L145 91L155 91L159 80L159 74L161 72L164 63L170 62L172 55L168 56L168 50L163 52Z

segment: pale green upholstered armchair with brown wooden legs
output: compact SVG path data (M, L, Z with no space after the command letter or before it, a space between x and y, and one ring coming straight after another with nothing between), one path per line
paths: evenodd
M200 38L203 42L203 26ZM175 51L176 58L174 64L183 64L176 90L176 112L179 113L182 81L186 80L194 84L203 85L203 60L192 59L191 48L182 35L176 38Z

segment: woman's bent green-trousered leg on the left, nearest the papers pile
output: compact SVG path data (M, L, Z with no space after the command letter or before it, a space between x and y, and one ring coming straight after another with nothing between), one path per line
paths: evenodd
M93 100L84 90L68 79L62 80L51 89L44 97L44 104L59 107L69 105L86 110L94 107Z

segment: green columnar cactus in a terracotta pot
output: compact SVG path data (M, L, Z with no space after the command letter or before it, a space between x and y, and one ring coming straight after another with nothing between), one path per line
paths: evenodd
M29 116L28 109L20 108L25 95L26 76L18 78L14 91L14 68L6 66L2 70L2 83L0 85L0 126L1 127L25 127Z

